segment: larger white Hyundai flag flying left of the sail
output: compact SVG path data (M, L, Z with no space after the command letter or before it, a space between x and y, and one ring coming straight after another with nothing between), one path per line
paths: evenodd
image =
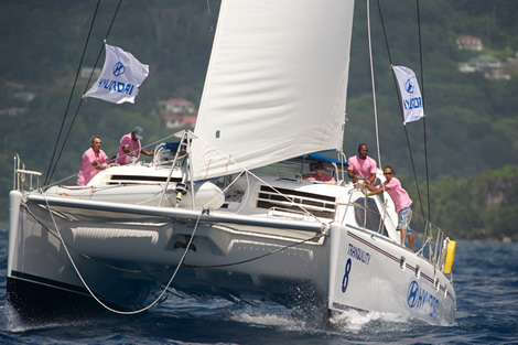
M116 104L134 103L139 86L149 74L149 66L141 64L131 53L105 44L106 61L94 86L83 97L95 97Z

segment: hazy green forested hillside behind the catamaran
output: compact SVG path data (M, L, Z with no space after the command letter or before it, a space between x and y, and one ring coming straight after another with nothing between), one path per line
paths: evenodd
M101 52L101 67L102 40L118 3L100 2L83 66L96 65ZM458 63L482 53L503 61L516 57L518 2L421 0L421 41L416 1L379 3L385 28L376 1L370 1L370 19L382 163L395 166L407 176L404 185L414 188L408 134L419 181L425 180L428 152L434 223L457 238L516 239L518 74L510 68L510 80L487 79L479 72L461 73ZM150 76L134 105L88 99L78 107L87 80L79 78L72 98L71 94L96 6L95 0L0 3L0 111L25 109L17 116L0 114L0 222L8 216L13 153L46 176L62 123L56 154L65 137L67 141L53 182L77 172L90 136L101 134L104 150L114 155L120 137L136 125L144 128L144 144L171 134L159 116L158 100L199 103L219 0L122 1L108 44L149 64ZM365 2L356 1L344 151L353 155L357 144L366 142L378 159L366 22ZM460 51L455 42L461 35L481 37L484 52ZM412 68L423 82L425 121L402 126L390 64ZM32 101L17 98L21 91L36 96ZM412 197L418 201L413 193Z

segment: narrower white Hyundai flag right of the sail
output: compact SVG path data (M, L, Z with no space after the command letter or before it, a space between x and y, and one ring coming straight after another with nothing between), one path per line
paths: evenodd
M417 121L424 116L421 90L412 69L404 66L392 66L398 79L404 123Z

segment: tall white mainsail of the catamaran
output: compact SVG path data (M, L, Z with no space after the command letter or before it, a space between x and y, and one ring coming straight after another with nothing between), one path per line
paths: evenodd
M354 0L222 3L194 179L342 150Z

